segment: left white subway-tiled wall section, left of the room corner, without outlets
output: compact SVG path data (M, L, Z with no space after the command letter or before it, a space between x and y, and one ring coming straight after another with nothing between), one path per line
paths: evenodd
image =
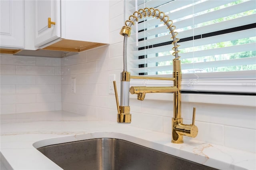
M1 114L61 110L59 58L0 55Z

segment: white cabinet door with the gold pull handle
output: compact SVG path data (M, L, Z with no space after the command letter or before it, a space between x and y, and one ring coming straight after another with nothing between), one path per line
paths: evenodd
M35 13L35 47L60 38L60 0L36 0ZM48 18L55 22L51 28L48 28Z

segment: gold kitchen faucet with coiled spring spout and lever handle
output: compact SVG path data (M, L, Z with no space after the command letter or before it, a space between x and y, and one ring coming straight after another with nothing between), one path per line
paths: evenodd
M127 71L127 38L130 37L131 34L131 26L134 25L134 22L138 22L139 19L143 17L156 17L156 19L160 19L160 21L164 22L164 25L167 26L167 29L170 30L170 34L172 35L172 50L174 51L172 55L174 55L173 59L173 78L168 77L144 77L144 76L132 76L130 72ZM126 20L125 26L122 27L120 34L124 36L124 52L123 52L123 64L124 69L121 73L121 95L120 95L120 105L118 101L118 94L116 90L116 82L114 81L114 90L116 95L116 105L117 105L117 122L118 123L130 123L131 122L131 114L130 114L130 106L129 106L129 91L131 94L137 94L138 100L144 100L146 93L173 93L174 94L174 111L172 118L172 143L183 143L183 136L196 137L198 134L198 128L194 125L195 123L195 113L196 108L193 110L193 120L191 125L183 124L183 119L181 118L181 63L180 56L178 55L178 47L180 45L177 44L179 41L176 36L177 32L174 32L175 26L172 25L172 20L169 20L169 16L166 16L164 12L160 12L158 9L154 8L144 8L138 11L135 11L130 17L129 20ZM171 80L174 82L173 87L130 87L130 79L158 79L158 80ZM129 89L130 87L130 89Z

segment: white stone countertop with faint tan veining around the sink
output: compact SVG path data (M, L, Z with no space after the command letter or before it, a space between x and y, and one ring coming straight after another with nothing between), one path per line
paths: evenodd
M64 111L1 115L1 164L15 170L61 169L36 148L92 138L118 138L223 170L256 169L256 154Z

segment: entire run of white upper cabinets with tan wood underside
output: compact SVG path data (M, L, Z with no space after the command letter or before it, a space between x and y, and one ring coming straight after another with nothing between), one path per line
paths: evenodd
M109 43L109 0L0 2L1 53L8 49L22 49L18 53L24 55L36 49L80 52Z

